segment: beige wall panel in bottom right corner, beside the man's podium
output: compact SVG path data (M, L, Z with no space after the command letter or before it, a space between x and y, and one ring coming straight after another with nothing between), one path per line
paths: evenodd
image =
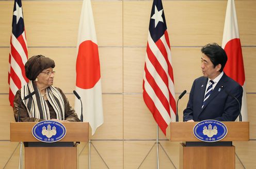
M245 166L241 168L255 168L256 141L254 140L249 142L233 142L233 145L235 146L236 155L239 157L239 159ZM236 165L235 168L239 167L237 167Z

